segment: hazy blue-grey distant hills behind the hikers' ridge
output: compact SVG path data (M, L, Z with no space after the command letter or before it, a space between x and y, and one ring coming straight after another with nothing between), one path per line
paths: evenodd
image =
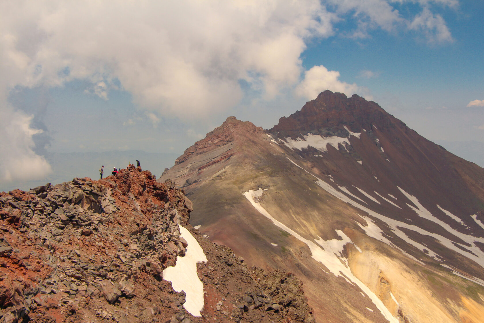
M173 166L179 154L176 153L147 153L141 150L111 151L104 153L49 153L45 158L50 163L53 172L43 180L17 181L0 183L0 191L9 191L15 188L29 190L32 187L46 183L62 183L71 181L74 177L91 177L99 179L99 168L104 165L105 176L110 175L113 167L126 168L129 162L141 163L142 169L150 170L159 177L165 168Z

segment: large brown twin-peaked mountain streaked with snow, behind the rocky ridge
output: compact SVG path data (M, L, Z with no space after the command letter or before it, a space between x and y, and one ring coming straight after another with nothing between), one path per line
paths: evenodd
M171 178L190 223L300 277L317 322L481 322L484 171L375 102L322 92L270 130L230 117Z

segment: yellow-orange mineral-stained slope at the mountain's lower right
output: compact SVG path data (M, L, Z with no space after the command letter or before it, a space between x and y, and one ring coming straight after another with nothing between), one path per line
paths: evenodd
M366 245L363 252L351 252L348 265L400 322L456 323L483 322L484 307L460 295L461 302L438 299L428 283L419 274L423 266L404 257L388 257L374 246ZM417 270L419 272L417 272ZM449 297L460 294L449 290ZM443 304L447 303L447 304Z

